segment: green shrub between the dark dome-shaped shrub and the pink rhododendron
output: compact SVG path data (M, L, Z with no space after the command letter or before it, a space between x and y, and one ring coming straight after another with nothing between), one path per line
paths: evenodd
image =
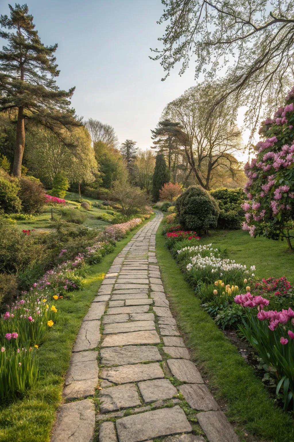
M220 207L218 227L229 230L241 229L244 218L244 210L241 207L245 196L243 190L222 187L211 191L210 194L216 198Z

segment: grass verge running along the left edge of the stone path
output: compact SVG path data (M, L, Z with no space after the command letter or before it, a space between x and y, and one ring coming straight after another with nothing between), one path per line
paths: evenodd
M60 319L50 329L45 342L38 349L39 369L43 377L26 398L0 408L1 442L49 441L55 412L62 399L64 375L69 365L71 349L82 318L101 285L99 274L108 271L115 256L148 221L144 221L129 236L119 241L115 251L106 255L101 263L90 267L84 290L74 292L72 300L57 301L56 308L60 310Z

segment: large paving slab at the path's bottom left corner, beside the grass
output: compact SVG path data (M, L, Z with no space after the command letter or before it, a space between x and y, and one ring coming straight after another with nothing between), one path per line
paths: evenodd
M84 399L60 406L51 442L92 442L95 429L95 405Z

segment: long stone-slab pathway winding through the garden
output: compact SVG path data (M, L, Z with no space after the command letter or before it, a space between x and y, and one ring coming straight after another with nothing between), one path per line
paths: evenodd
M169 309L155 255L161 219L157 213L115 258L84 317L52 442L239 440L190 361ZM89 396L98 382L95 416ZM182 400L198 412L205 438L192 434L195 424L180 407Z

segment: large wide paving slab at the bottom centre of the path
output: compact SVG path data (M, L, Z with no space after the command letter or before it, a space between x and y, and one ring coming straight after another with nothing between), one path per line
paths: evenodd
M118 419L115 425L119 442L141 442L169 434L192 431L185 413L178 405L126 416Z

